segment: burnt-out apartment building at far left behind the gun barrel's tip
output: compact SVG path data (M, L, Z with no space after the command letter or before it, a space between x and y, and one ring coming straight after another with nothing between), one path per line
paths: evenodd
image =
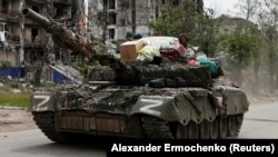
M57 52L51 36L22 16L24 8L69 27L76 22L72 19L77 14L73 13L77 12L77 0L0 0L0 77L22 77L23 66L41 65L50 53ZM3 67L2 62L9 62L10 67ZM52 80L51 76L46 79Z

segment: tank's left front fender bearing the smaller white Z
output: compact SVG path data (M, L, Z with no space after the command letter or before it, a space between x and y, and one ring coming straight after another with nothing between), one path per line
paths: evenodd
M48 91L34 91L30 96L29 111L54 111L54 97Z

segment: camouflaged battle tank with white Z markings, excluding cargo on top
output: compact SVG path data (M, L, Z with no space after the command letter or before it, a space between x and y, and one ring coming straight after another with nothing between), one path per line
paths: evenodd
M100 63L88 81L33 91L29 109L37 126L58 143L79 135L136 139L237 138L248 111L246 94L215 86L207 66L180 61L121 61L93 49L90 40L26 8L23 16L53 41ZM161 58L160 58L161 59Z

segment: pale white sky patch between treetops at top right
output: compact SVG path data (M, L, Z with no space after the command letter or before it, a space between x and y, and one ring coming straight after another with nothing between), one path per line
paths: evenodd
M216 17L225 13L236 16L235 4L238 0L202 0L205 8L211 8L216 11Z

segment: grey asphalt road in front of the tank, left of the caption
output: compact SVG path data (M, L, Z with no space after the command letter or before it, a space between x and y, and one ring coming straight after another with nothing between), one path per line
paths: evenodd
M2 157L106 157L105 145L61 145L49 140L39 129L0 134Z

